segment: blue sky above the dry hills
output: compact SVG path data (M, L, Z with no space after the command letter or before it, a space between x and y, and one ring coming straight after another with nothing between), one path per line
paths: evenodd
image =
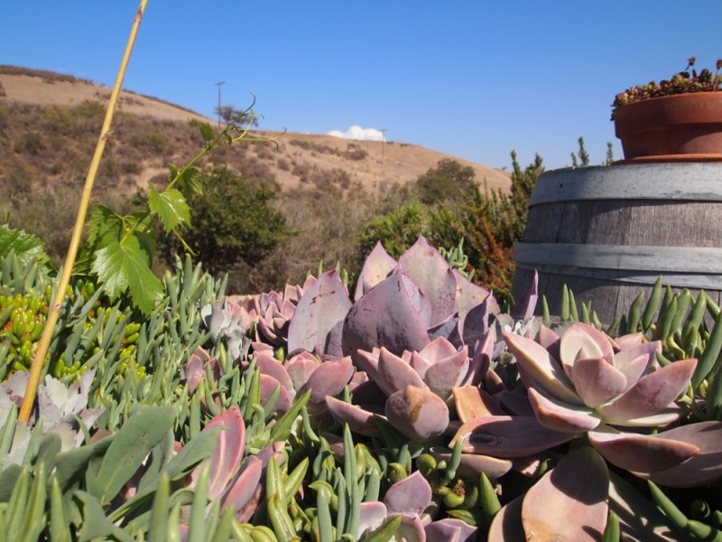
M112 85L138 0L0 7L0 64ZM616 92L722 58L720 0L150 0L125 89L261 127L385 130L480 164L570 165L606 142Z

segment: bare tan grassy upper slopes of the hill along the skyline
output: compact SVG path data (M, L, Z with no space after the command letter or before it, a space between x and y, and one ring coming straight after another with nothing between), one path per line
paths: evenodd
M63 76L46 71L0 66L0 107L13 103L73 107L85 101L107 103L111 89L84 79ZM190 119L214 121L184 107L124 91L119 110L140 117L153 117L162 121L186 122ZM477 180L486 181L491 189L508 191L509 174L475 164L457 156L443 154L419 145L397 142L351 141L331 135L261 132L261 135L279 137L279 149L273 155L258 147L259 157L265 159L276 181L282 187L298 187L308 179L309 173L327 172L347 177L349 182L363 190L376 192L384 183L409 182L434 167L443 158L474 168ZM267 145L266 145L267 146ZM138 183L153 174L164 172L165 164L149 161L142 164ZM341 173L345 172L345 173Z

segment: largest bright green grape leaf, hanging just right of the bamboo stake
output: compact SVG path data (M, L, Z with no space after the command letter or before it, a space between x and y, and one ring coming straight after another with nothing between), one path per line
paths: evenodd
M153 275L141 240L135 235L122 244L111 241L97 250L93 272L111 300L129 290L134 304L146 314L153 311L163 294L162 282Z

